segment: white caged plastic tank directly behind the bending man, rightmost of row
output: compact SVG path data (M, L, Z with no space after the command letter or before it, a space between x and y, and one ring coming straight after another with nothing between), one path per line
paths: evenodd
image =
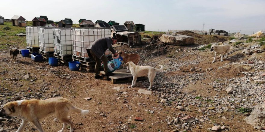
M110 28L73 28L73 55L81 55L81 57L88 57L86 48L93 44L95 40L103 37L111 36ZM109 49L106 50L105 55L109 55Z

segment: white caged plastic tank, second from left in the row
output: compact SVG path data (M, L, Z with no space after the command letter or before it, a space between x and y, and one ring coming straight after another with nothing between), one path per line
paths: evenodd
M39 48L43 52L54 52L53 30L51 27L39 27Z

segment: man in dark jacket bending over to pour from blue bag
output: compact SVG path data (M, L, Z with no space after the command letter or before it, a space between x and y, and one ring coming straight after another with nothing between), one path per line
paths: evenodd
M86 51L88 53L89 58L92 61L96 62L95 65L95 79L102 78L102 76L99 75L99 67L101 64L101 61L104 65L104 72L106 76L112 76L113 73L108 72L108 58L105 56L105 51L109 49L112 53L114 53L114 56L117 56L117 52L112 48L111 45L117 43L116 37L105 37L105 38L99 38L93 44L89 45L86 48Z

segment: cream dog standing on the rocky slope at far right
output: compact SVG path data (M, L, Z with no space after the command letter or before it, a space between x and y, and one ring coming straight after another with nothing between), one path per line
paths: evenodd
M227 58L227 54L228 54L228 52L230 50L230 46L227 45L227 44L225 44L225 45L216 45L216 44L213 44L211 46L210 51L213 51L213 50L214 50L214 61L212 63L215 62L217 53L220 53L221 62L222 62L223 61L223 55L224 54L226 54L226 57L225 58Z

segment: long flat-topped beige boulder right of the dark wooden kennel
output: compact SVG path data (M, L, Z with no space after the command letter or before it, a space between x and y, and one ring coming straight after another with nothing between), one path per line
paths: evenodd
M162 35L159 40L171 45L188 45L194 43L194 38L186 35Z

